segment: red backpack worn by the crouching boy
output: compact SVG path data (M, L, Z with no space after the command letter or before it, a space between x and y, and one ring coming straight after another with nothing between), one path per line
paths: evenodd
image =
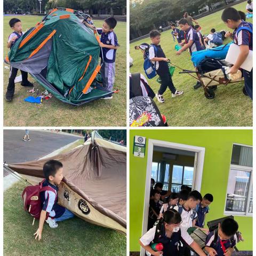
M42 182L39 182L38 185L35 186L27 186L22 193L22 199L23 199L23 206L26 212L28 212L32 217L34 217L33 224L35 219L40 218L40 214L42 211L41 206L41 198L40 193L42 191L50 190L56 194L56 190L50 186L44 186L43 187L43 180ZM46 219L48 218L49 213L46 213Z

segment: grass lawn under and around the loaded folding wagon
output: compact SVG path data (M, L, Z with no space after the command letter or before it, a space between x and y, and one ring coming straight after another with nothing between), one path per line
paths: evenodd
M246 2L234 7L244 11L245 5ZM203 34L209 34L211 28L215 28L217 31L228 30L220 18L221 13L222 11L219 11L198 19ZM252 22L252 19L247 21ZM140 50L134 50L134 46L141 43L150 44L150 39L146 38L130 44L130 54L133 58L133 67L130 68L130 72L140 72L144 75L142 53ZM184 69L194 70L189 52L183 52L179 56L175 55L174 46L177 41L173 42L171 30L161 34L160 44L171 62ZM227 86L219 85L215 91L215 98L209 100L205 98L202 88L193 89L193 85L196 84L195 78L188 74L179 74L179 71L181 70L176 68L173 84L177 90L183 90L184 94L172 98L170 90L167 89L164 93L164 103L159 103L154 98L159 110L166 116L169 126L252 126L252 100L243 94L243 82ZM156 93L160 86L156 82L156 78L148 79L148 82Z

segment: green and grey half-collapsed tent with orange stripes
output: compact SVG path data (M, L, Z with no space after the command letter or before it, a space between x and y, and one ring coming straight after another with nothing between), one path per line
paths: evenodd
M84 18L72 9L52 10L19 38L5 59L30 73L59 100L72 105L113 93L97 82L99 36L78 17Z

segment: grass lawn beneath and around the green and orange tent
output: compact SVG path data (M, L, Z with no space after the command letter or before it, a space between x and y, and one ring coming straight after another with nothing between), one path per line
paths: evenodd
M11 29L9 20L12 17L4 17L4 42L7 42ZM22 29L26 31L42 20L39 16L18 17L22 22ZM102 20L95 20L95 25L100 27ZM118 43L121 45L116 55L116 77L114 89L119 93L113 95L112 100L96 100L83 106L71 106L57 98L43 101L41 105L23 101L31 95L28 88L15 84L15 93L12 102L5 101L5 92L9 79L9 70L4 69L4 125L5 126L125 126L126 125L126 22L117 22L115 33ZM4 43L4 57L9 49ZM4 63L4 66L7 66ZM20 71L18 72L20 75ZM35 89L43 91L31 76Z

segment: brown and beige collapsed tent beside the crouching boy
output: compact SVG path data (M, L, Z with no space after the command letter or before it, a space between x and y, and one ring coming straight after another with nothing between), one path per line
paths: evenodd
M36 185L44 178L43 165L50 159L63 164L60 205L88 222L126 234L126 147L93 134L67 153L4 166Z

